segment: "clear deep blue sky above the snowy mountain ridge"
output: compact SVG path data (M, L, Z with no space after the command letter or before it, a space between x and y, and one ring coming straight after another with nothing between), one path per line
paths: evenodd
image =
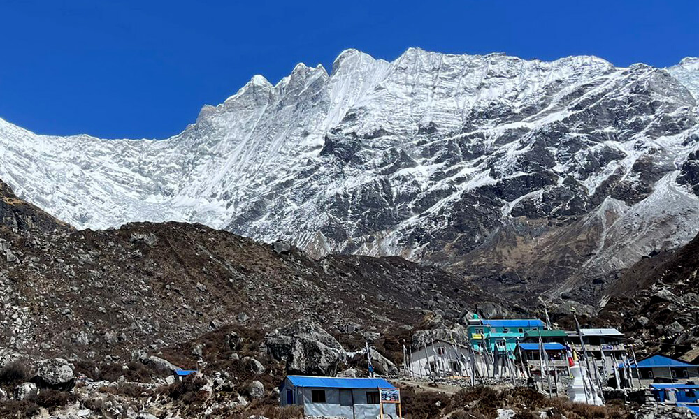
M0 117L38 133L166 138L260 73L354 47L617 66L699 55L697 0L0 0Z

